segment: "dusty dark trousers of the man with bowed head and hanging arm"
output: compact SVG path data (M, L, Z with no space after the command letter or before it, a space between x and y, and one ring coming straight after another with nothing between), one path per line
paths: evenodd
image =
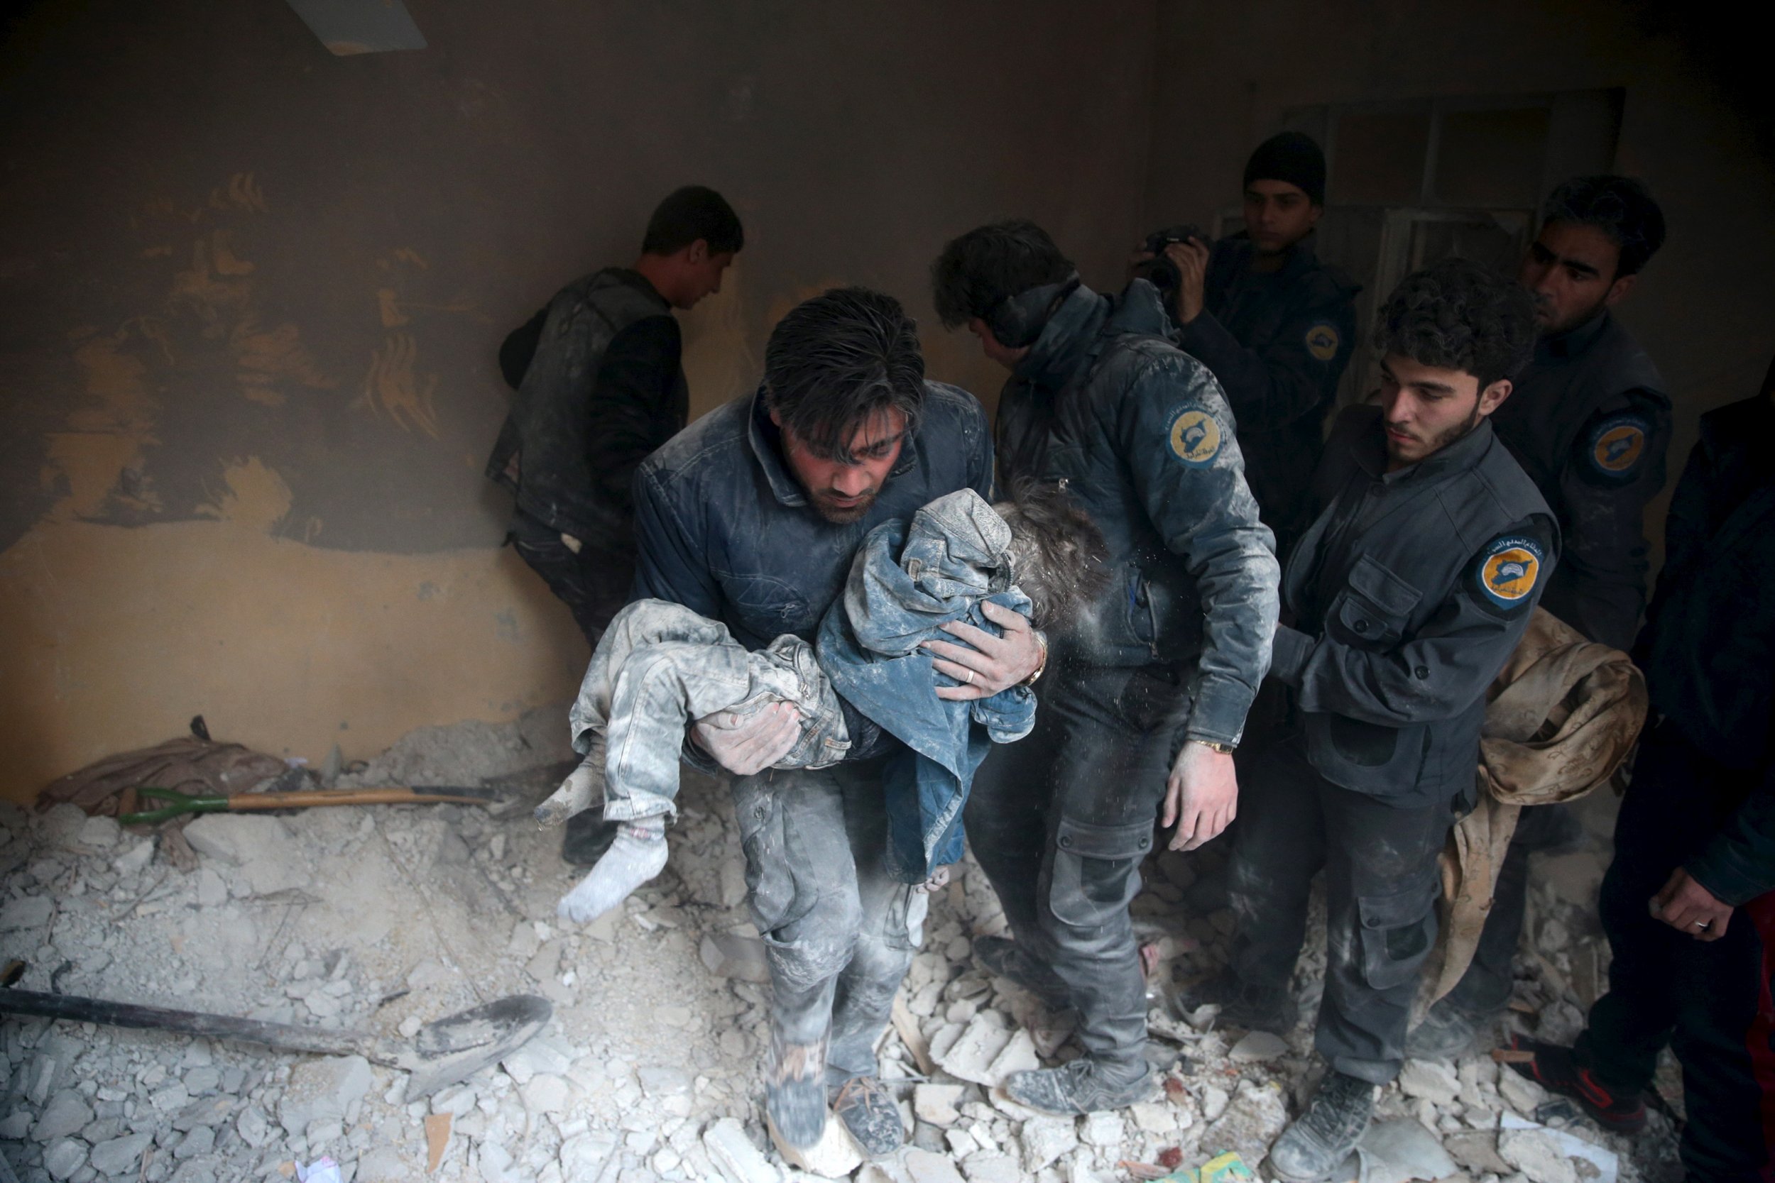
M1049 678L1030 738L974 773L967 841L1017 944L1067 983L1079 1043L1111 1077L1138 1077L1147 984L1127 905L1187 695L1170 667L1061 665Z

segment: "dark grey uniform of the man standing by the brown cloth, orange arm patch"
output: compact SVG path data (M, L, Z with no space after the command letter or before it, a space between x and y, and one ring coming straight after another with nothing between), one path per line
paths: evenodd
M1271 670L1299 729L1241 761L1234 970L1246 990L1287 990L1324 866L1315 1046L1384 1084L1436 936L1436 860L1473 800L1486 690L1528 628L1558 530L1484 422L1388 472L1379 410L1351 408L1314 488L1326 509L1289 559L1292 623Z

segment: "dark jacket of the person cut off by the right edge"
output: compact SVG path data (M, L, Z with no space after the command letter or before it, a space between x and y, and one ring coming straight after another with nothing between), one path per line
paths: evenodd
M1720 830L1688 873L1731 905L1775 889L1775 365L1764 392L1700 417L1665 525L1635 654L1653 711L1731 768L1761 772L1748 796L1693 802ZM1633 789L1629 789L1631 793Z

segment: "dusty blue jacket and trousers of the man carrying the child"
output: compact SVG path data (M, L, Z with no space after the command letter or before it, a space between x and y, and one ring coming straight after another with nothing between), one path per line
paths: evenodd
M992 438L966 390L925 383L919 424L875 504L843 525L808 504L763 397L749 394L680 431L635 474L635 596L722 621L747 649L783 633L813 640L868 532L966 488L992 491ZM861 756L872 750L861 713L845 725L850 761L740 777L733 800L770 963L774 1038L809 1046L827 1032L829 1069L868 1075L925 899L888 873L882 761Z

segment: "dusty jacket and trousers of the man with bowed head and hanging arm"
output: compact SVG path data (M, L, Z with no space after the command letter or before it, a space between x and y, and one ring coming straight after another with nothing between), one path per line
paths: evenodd
M1276 621L1232 411L1168 328L1145 280L1115 300L1079 286L1006 388L1001 438L1047 424L1038 475L1065 481L1102 532L1109 589L1058 630L1037 734L987 759L967 809L1017 942L1069 984L1111 1082L1147 1071L1127 903L1166 772L1186 736L1239 741Z

